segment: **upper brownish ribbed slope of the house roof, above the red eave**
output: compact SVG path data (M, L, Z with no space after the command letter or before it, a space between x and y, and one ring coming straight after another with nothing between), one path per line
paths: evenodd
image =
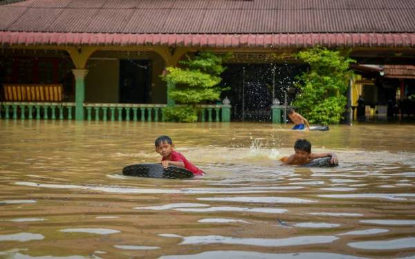
M415 32L414 0L28 0L0 31L132 34Z

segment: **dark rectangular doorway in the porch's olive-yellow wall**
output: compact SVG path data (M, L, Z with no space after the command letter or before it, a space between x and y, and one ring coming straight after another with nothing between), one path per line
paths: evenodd
M120 59L120 103L150 102L151 66L148 59Z

